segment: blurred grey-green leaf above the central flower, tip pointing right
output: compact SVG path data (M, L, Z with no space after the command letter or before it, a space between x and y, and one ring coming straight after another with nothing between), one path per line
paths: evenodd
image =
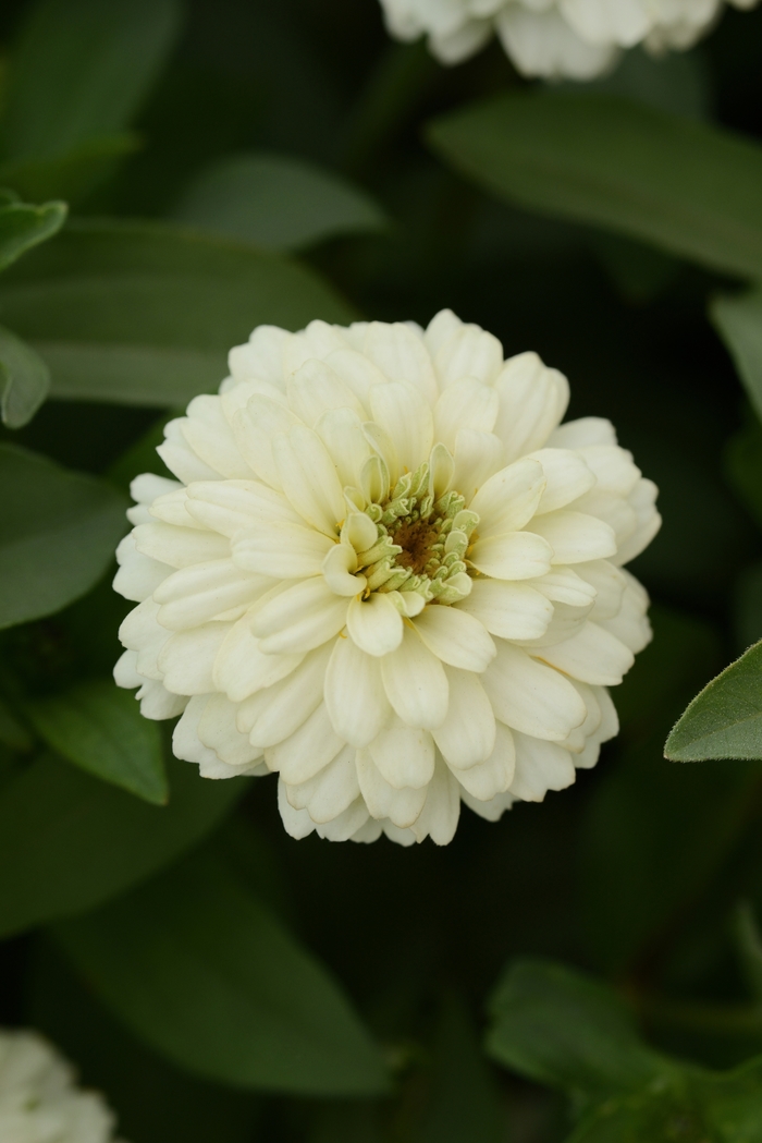
M174 217L265 250L305 249L337 234L387 225L372 199L344 178L303 159L266 152L207 167Z

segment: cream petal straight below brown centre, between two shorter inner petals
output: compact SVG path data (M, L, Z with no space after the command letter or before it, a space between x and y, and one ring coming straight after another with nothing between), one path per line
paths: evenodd
M408 726L433 730L447 718L444 668L424 646L412 624L403 625L402 642L382 658L382 678L392 706Z

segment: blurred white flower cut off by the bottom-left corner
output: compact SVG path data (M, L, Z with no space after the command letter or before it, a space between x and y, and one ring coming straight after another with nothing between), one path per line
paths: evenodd
M37 1032L0 1031L0 1143L110 1143L114 1116Z

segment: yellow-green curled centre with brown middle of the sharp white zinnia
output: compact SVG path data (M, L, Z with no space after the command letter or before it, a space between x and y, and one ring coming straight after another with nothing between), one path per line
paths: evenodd
M479 515L455 490L434 495L430 466L422 464L398 480L385 503L368 505L378 530L376 544L358 557L368 591L415 591L438 604L470 593L473 573L465 555Z

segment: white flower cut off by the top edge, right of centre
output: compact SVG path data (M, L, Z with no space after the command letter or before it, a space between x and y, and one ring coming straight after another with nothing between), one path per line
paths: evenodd
M753 8L759 0L728 0ZM689 48L706 32L724 0L380 0L390 33L428 37L443 64L479 51L497 32L522 75L592 79L623 48Z

